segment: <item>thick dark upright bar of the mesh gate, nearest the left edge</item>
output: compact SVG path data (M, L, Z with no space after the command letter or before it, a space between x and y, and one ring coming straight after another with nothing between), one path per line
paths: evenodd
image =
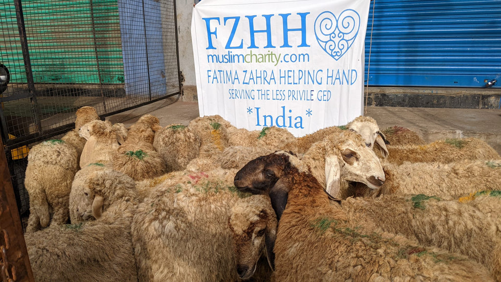
M18 20L18 29L19 29L19 38L21 41L21 49L23 51L23 60L25 63L25 70L26 70L26 79L28 82L28 90L30 91L31 97L31 104L32 104L32 110L34 113L34 118L35 118L35 124L37 125L37 131L42 132L42 121L41 121L41 114L39 110L37 109L37 96L36 96L36 91L35 91L35 81L33 79L33 71L31 67L31 60L30 60L30 51L28 48L28 41L26 37L26 27L25 27L25 18L23 15L23 6L21 4L21 0L14 0L14 5L16 6L16 18ZM7 128L6 128L7 130Z

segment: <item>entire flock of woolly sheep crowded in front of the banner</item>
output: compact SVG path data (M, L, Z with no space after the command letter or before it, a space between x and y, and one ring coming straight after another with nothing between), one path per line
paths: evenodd
M370 117L296 138L76 112L34 146L37 281L501 281L501 158Z

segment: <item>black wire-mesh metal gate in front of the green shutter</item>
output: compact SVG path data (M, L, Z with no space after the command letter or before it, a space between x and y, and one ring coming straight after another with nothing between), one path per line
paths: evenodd
M1 135L22 218L29 149L181 92L174 0L0 0Z

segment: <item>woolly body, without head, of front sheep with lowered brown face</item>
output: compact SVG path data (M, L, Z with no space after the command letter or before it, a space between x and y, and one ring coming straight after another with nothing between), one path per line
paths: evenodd
M138 277L148 281L234 281L228 228L236 189L200 179L159 185L132 223Z

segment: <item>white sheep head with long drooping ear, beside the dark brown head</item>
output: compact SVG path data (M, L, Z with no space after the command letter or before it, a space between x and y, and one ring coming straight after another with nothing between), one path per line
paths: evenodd
M347 186L348 181L363 183L371 189L383 185L385 175L381 163L359 134L345 131L339 137L328 137L325 141L327 193L338 197L341 186Z

